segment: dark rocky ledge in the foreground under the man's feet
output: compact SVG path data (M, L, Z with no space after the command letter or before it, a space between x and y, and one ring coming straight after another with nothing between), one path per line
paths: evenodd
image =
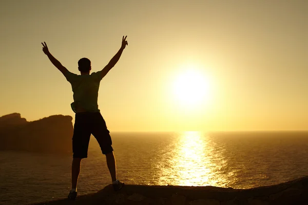
M308 204L308 176L253 189L126 185L114 192L109 185L98 193L79 196L75 201L60 199L35 204L301 205Z

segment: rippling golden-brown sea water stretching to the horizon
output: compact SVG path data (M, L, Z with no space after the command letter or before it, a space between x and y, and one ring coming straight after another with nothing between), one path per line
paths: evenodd
M308 132L111 133L118 178L127 184L217 186L274 185L308 175ZM65 198L71 156L0 152L0 204ZM111 182L105 156L91 137L79 195Z

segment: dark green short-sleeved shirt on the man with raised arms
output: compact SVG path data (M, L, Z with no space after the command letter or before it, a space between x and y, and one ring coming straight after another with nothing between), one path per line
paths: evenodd
M82 108L86 112L100 112L98 96L102 71L91 73L90 75L77 75L67 71L65 77L72 86L74 102L71 104L72 110Z

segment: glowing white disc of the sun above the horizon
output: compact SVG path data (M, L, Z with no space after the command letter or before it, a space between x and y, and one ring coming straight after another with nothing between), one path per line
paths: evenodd
M186 69L176 77L173 92L177 103L185 107L202 105L211 95L209 80L194 68Z

